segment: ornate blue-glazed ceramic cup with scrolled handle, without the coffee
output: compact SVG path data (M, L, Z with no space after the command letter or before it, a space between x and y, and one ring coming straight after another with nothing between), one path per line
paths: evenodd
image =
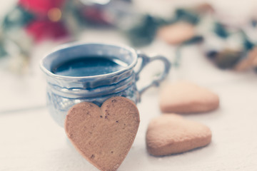
M101 58L116 58L127 64L125 68L112 73L96 76L61 76L52 73L52 69L61 63L76 58L98 56ZM134 71L138 58L141 66ZM152 61L163 61L164 70L159 78L154 79L148 86L141 90L136 88L138 74L143 67ZM69 43L59 46L55 51L44 56L40 67L46 75L47 105L51 116L56 123L64 126L64 120L69 108L83 101L101 105L113 96L124 96L138 103L141 94L151 86L158 86L168 75L171 63L163 56L148 57L126 46L114 46L103 43Z

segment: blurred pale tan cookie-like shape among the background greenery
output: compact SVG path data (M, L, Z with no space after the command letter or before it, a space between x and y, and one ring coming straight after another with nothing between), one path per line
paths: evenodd
M158 30L157 36L166 43L178 44L187 41L195 36L195 29L193 25L178 22L169 26L163 26Z

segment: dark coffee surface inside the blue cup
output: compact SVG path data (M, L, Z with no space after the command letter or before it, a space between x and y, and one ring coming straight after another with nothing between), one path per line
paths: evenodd
M76 58L52 68L51 72L60 76L96 76L113 73L126 68L127 64L119 59L99 56Z

